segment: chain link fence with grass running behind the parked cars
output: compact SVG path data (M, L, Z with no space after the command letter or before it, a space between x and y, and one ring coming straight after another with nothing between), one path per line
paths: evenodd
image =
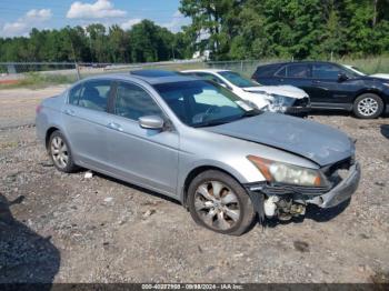
M42 87L59 83L72 83L90 76L128 72L139 69L189 70L226 69L240 72L250 78L259 64L292 61L286 59L262 59L245 61L177 60L150 63L76 63L76 62L0 62L0 88ZM368 59L339 59L343 64L356 66L367 73L389 72L389 57Z

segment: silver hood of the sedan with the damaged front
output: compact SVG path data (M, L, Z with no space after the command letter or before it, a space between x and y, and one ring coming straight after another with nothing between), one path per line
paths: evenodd
M355 151L351 140L337 129L270 112L205 130L296 153L321 167L347 159Z

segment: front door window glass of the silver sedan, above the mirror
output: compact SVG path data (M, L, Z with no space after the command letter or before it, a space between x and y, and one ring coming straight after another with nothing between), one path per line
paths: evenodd
M142 88L119 83L114 102L114 114L132 120L146 116L160 116L162 112L154 100Z

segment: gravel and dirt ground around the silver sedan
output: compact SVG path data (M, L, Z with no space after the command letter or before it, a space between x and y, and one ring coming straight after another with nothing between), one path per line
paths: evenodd
M100 174L63 174L34 107L63 88L0 91L0 282L371 282L389 273L389 119L315 116L357 142L349 205L235 238L178 203ZM22 127L21 127L22 126Z

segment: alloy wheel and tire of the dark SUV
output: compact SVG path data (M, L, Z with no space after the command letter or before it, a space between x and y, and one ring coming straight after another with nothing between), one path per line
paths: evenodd
M358 97L353 103L353 112L358 118L378 118L383 110L382 99L373 93L365 93Z

